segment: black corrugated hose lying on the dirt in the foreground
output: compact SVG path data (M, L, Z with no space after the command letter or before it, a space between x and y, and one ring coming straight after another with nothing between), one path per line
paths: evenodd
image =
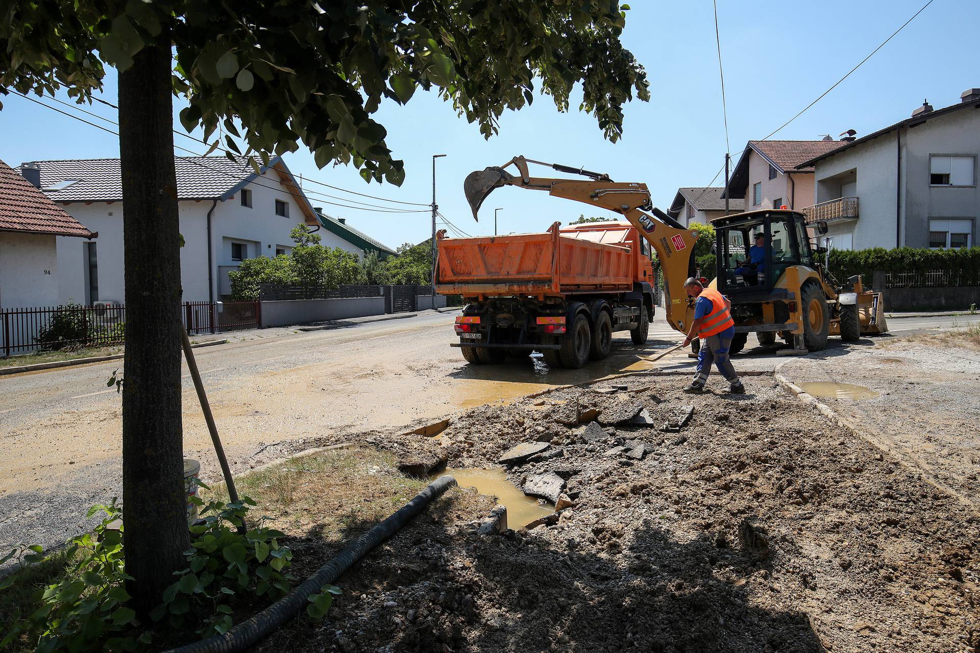
M349 544L333 559L319 568L319 571L308 578L268 608L242 622L222 635L196 641L186 646L174 648L167 653L237 653L259 641L272 630L275 630L300 614L307 605L307 599L319 593L320 587L333 583L344 572L364 557L372 548L390 536L395 535L409 520L415 517L422 508L444 491L456 485L456 479L451 476L440 476L425 490L418 492L416 497L402 506L386 520L360 536L354 543Z

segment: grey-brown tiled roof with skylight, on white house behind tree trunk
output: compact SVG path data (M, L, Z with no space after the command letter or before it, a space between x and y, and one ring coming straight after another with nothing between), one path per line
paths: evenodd
M221 198L255 176L245 158L174 157L177 199ZM41 166L41 188L55 202L122 202L119 159L35 161Z

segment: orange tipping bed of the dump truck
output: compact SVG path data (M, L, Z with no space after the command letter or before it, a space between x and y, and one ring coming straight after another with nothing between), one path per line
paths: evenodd
M436 290L465 297L632 290L636 255L629 225L557 227L539 234L439 239Z

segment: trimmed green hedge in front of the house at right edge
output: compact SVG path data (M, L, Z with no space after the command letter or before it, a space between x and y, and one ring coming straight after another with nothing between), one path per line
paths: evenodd
M875 270L884 272L928 272L942 270L964 281L980 283L980 247L968 250L834 250L830 253L830 272L838 281L861 274L870 284ZM968 284L963 284L968 285Z

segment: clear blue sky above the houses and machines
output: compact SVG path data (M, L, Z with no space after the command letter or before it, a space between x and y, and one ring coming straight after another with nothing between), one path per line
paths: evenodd
M746 141L762 138L807 106L924 2L718 0L733 157ZM487 141L475 124L457 117L434 93L419 92L405 107L388 103L378 112L388 129L388 146L406 163L408 175L401 188L368 185L353 167L319 170L306 152L288 155L285 161L294 172L334 186L428 203L431 155L446 154L437 163L437 201L453 223L472 235L493 233L493 210L498 207L502 209L500 233L539 231L581 212L594 214L585 205L505 188L487 200L479 223L474 222L463 196L466 174L505 163L515 155L585 166L608 172L617 181L646 182L654 204L665 210L679 186L708 184L725 152L711 0L634 0L630 5L623 42L646 67L653 98L626 107L624 135L618 143L605 141L595 118L576 111L574 97L567 114L559 114L549 98L535 98L530 108L505 114L500 134ZM874 57L773 138L818 139L824 134L836 138L849 128L861 136L907 117L925 98L937 109L956 104L965 88L980 86L977 24L980 2L935 0ZM107 79L103 97L115 104L115 75ZM2 101L0 159L6 163L119 156L118 140L111 134L16 96ZM102 105L86 109L115 117ZM179 123L175 125L179 130ZM199 153L205 149L194 141L175 140ZM547 174L544 168L539 173ZM720 177L713 185L721 185ZM348 218L392 247L419 242L430 230L428 213L366 212L330 207L324 198L311 199L315 206Z

